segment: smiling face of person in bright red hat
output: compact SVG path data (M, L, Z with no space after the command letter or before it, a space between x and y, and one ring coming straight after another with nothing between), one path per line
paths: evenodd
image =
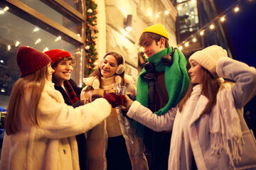
M55 79L59 84L63 84L63 81L69 80L71 73L73 72L73 64L71 60L63 60L58 62L57 66L54 68Z

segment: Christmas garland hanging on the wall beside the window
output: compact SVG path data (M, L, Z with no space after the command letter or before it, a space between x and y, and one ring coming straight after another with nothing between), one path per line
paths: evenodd
M84 77L89 77L89 75L95 70L94 63L98 59L97 50L95 48L96 45L96 36L95 34L99 31L97 30L97 4L95 4L95 0L86 0L86 45L85 45L85 72Z

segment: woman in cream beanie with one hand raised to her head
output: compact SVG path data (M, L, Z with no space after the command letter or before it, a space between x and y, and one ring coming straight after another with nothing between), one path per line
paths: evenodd
M230 59L217 45L189 62L191 87L176 108L158 116L126 97L127 115L156 131L173 130L170 170L256 169L255 140L243 118L243 106L256 94L255 67ZM241 152L247 158L240 160Z

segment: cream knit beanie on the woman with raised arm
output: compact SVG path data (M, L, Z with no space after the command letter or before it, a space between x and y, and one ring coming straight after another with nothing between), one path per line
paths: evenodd
M189 57L189 63L194 60L215 76L216 63L220 57L228 57L227 51L218 45L211 45L210 47L193 53L193 55Z

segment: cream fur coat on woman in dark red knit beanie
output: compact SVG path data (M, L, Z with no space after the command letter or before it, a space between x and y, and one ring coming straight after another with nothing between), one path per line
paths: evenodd
M30 93L28 89L23 102L25 108ZM78 108L67 106L60 92L48 81L38 105L41 126L21 124L20 132L5 134L0 169L80 169L75 135L102 122L110 115L110 108L104 98ZM25 115L22 111L19 114Z

